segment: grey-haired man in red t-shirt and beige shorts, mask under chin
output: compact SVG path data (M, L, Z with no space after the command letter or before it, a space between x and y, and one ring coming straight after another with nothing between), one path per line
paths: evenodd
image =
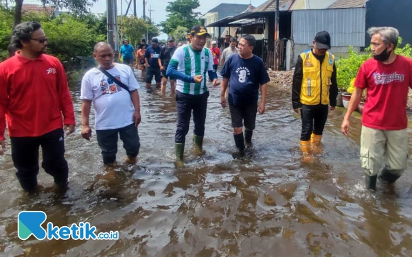
M376 178L393 184L407 169L407 98L412 88L412 60L395 53L399 32L393 27L371 27L374 58L362 64L355 81L356 90L342 123L347 135L350 115L366 89L362 116L361 160L368 189L376 188ZM382 158L387 164L381 169Z

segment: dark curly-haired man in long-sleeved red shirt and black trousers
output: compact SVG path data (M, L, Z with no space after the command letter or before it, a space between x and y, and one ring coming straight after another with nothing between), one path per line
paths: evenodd
M17 25L11 41L21 51L0 64L0 155L5 151L7 119L12 159L21 188L36 188L41 146L43 169L64 189L69 175L64 130L69 128L69 135L75 127L65 69L57 58L45 54L47 38L40 23Z

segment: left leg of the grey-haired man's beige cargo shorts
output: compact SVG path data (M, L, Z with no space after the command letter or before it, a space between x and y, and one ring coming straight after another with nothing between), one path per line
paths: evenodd
M377 175L382 167L387 138L383 130L362 126L361 132L361 161L365 173Z

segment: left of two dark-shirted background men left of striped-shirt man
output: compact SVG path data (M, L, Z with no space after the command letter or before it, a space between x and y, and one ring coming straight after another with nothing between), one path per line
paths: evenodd
M144 54L144 60L146 62L146 66L148 67L148 71L146 72L146 88L147 92L152 92L150 90L150 85L152 84L153 76L155 76L156 81L156 88L160 88L160 66L158 62L159 54L161 48L159 47L159 40L157 38L152 38L152 46L146 49L146 53Z

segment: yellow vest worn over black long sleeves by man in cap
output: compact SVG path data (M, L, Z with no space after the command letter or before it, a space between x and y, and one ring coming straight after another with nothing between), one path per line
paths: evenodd
M313 56L309 49L301 53L302 71L300 101L302 104L314 106L319 103L329 104L329 87L332 84L334 56L326 52L322 62Z

